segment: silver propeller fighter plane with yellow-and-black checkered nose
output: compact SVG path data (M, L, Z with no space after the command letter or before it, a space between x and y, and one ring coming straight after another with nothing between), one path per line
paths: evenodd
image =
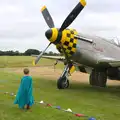
M105 87L107 78L120 80L119 45L104 38L81 34L75 29L68 28L85 6L86 1L80 0L60 28L55 28L46 6L41 9L42 15L49 26L45 36L50 43L33 63L36 65L42 57L63 61L65 68L57 80L59 89L68 88L68 76L72 74L75 67L78 67L80 72L90 74L89 83L92 86ZM64 56L43 56L51 44L54 44L56 49Z

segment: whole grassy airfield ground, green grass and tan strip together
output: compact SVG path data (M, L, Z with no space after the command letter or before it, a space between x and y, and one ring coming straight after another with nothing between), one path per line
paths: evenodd
M30 57L7 57L7 63L4 60L3 57L0 59L0 120L87 120L40 104L34 104L32 111L19 110L13 104L14 96L4 92L17 92L25 67L29 67L33 76L36 101L70 108L73 112L93 116L97 120L120 119L119 81L108 81L107 88L91 87L89 75L77 71L70 77L70 87L58 90L56 80L62 73L61 65L54 71L51 61L42 60L40 66L32 67Z

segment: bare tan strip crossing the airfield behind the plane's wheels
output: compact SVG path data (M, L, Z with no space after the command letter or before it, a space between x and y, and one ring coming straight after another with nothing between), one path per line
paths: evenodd
M23 74L23 68L7 68L7 71ZM44 77L50 78L52 80L57 80L61 73L62 69L54 69L53 66L45 66L45 67L28 67L30 69L30 74L35 77ZM89 74L81 73L79 71L75 71L72 76L69 77L70 81L86 83L89 84ZM107 85L117 85L120 86L120 81L117 80L108 80Z

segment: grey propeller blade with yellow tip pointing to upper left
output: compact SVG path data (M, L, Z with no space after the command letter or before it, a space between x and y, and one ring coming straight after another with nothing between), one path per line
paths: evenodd
M54 22L53 22L53 19L50 15L50 13L48 12L46 6L43 6L42 9L41 9L41 12L42 12L42 15L47 23L47 25L50 27L50 28L53 28L54 27Z

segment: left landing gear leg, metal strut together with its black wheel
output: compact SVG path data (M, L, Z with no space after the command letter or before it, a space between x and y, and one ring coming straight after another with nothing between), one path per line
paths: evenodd
M58 89L65 89L65 88L69 87L68 76L69 76L69 66L66 65L62 75L60 76L60 78L57 81Z

